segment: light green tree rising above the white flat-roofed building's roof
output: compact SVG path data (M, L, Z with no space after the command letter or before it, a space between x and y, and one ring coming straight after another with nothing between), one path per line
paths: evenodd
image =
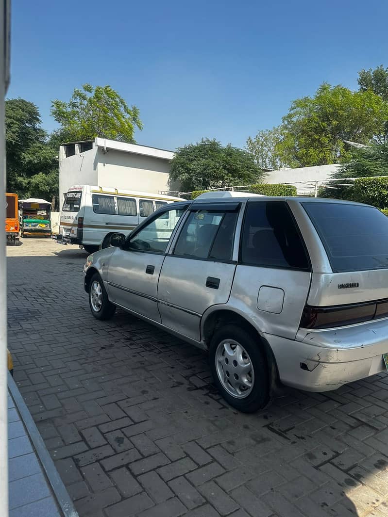
M83 84L75 88L69 102L52 101L51 114L61 124L62 142L91 140L103 136L134 143L135 129L142 129L139 109L129 107L118 93L107 86Z

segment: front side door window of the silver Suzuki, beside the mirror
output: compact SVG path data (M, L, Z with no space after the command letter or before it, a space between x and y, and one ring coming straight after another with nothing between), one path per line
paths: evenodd
M166 212L159 214L130 239L128 248L164 253L171 234L185 210L186 207L168 210L168 219L166 219Z

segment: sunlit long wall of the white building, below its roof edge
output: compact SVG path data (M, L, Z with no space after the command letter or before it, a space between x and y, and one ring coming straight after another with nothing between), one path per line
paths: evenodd
M124 153L109 149L105 154L98 148L99 187L113 187L158 193L168 190L170 162L168 160ZM86 182L84 182L86 183Z

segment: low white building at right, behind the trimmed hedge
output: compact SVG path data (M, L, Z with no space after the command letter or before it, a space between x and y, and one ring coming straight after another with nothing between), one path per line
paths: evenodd
M290 183L296 187L300 195L308 195L315 192L316 186L330 180L338 170L339 165L316 165L314 167L299 167L297 169L282 168L279 171L267 173L265 183Z

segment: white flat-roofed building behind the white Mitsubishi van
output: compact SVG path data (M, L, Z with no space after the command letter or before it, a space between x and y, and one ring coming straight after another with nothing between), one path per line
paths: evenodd
M72 185L167 191L173 157L165 149L104 138L63 144L59 148L59 205Z

